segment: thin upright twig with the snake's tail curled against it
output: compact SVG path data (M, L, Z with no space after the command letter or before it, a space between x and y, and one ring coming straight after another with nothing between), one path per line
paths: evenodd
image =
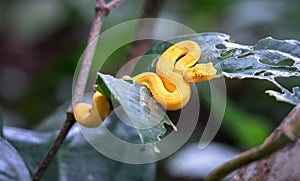
M88 46L84 53L84 57L82 59L82 65L79 72L79 77L76 82L74 95L73 95L74 96L73 104L81 101L83 97L85 87L86 87L86 82L91 68L91 63L97 45L97 36L101 30L103 18L107 16L113 8L121 4L121 2L122 2L121 0L112 0L109 4L105 4L104 0L97 0L96 2L96 15L89 34ZM48 153L45 155L41 165L39 166L36 173L34 174L32 178L33 181L41 180L41 178L45 174L48 166L50 165L51 161L55 157L57 151L61 147L63 141L65 140L69 130L74 125L74 123L75 123L75 119L73 116L72 105L71 105L67 111L66 121L64 122L63 127L60 129L59 134L57 135L55 141L51 145L51 148L49 149Z

